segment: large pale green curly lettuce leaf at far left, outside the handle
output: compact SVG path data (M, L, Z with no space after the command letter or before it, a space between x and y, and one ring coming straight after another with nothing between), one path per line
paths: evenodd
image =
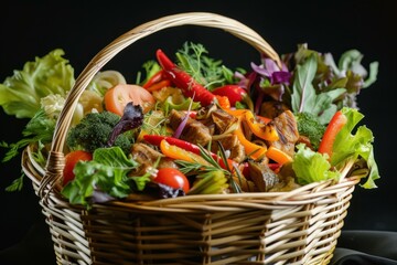
M34 62L26 62L23 70L0 84L0 106L17 118L32 118L41 108L41 98L47 95L65 96L75 83L74 68L56 49Z

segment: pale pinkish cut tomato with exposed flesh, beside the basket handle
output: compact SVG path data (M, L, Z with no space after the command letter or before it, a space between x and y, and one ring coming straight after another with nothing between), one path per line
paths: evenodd
M140 105L143 113L148 113L155 104L155 98L150 92L139 85L119 84L109 88L105 96L105 108L111 113L122 116L127 103Z

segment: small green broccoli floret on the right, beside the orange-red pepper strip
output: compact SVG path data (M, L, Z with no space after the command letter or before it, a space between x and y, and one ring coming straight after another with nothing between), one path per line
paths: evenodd
M308 137L313 149L316 150L324 135L325 125L322 125L311 113L296 114L296 118L299 134Z

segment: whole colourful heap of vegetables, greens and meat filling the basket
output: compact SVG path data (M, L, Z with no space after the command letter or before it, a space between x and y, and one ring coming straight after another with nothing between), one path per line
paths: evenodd
M3 161L35 145L34 159L45 167L75 82L63 55L36 57L0 84L3 110L29 119L20 141L1 142ZM358 126L364 115L356 97L376 81L377 63L367 72L362 57L347 51L336 64L302 44L281 65L260 57L230 70L202 44L186 42L174 57L155 51L135 82L99 72L67 134L62 193L89 206L133 195L290 191L350 174L376 188L374 136ZM23 176L8 190L22 182Z

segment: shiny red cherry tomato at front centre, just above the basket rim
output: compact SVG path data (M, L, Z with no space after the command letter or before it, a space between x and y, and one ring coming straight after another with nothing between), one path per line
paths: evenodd
M160 168L154 181L174 189L182 188L185 193L190 190L186 176L175 168Z

